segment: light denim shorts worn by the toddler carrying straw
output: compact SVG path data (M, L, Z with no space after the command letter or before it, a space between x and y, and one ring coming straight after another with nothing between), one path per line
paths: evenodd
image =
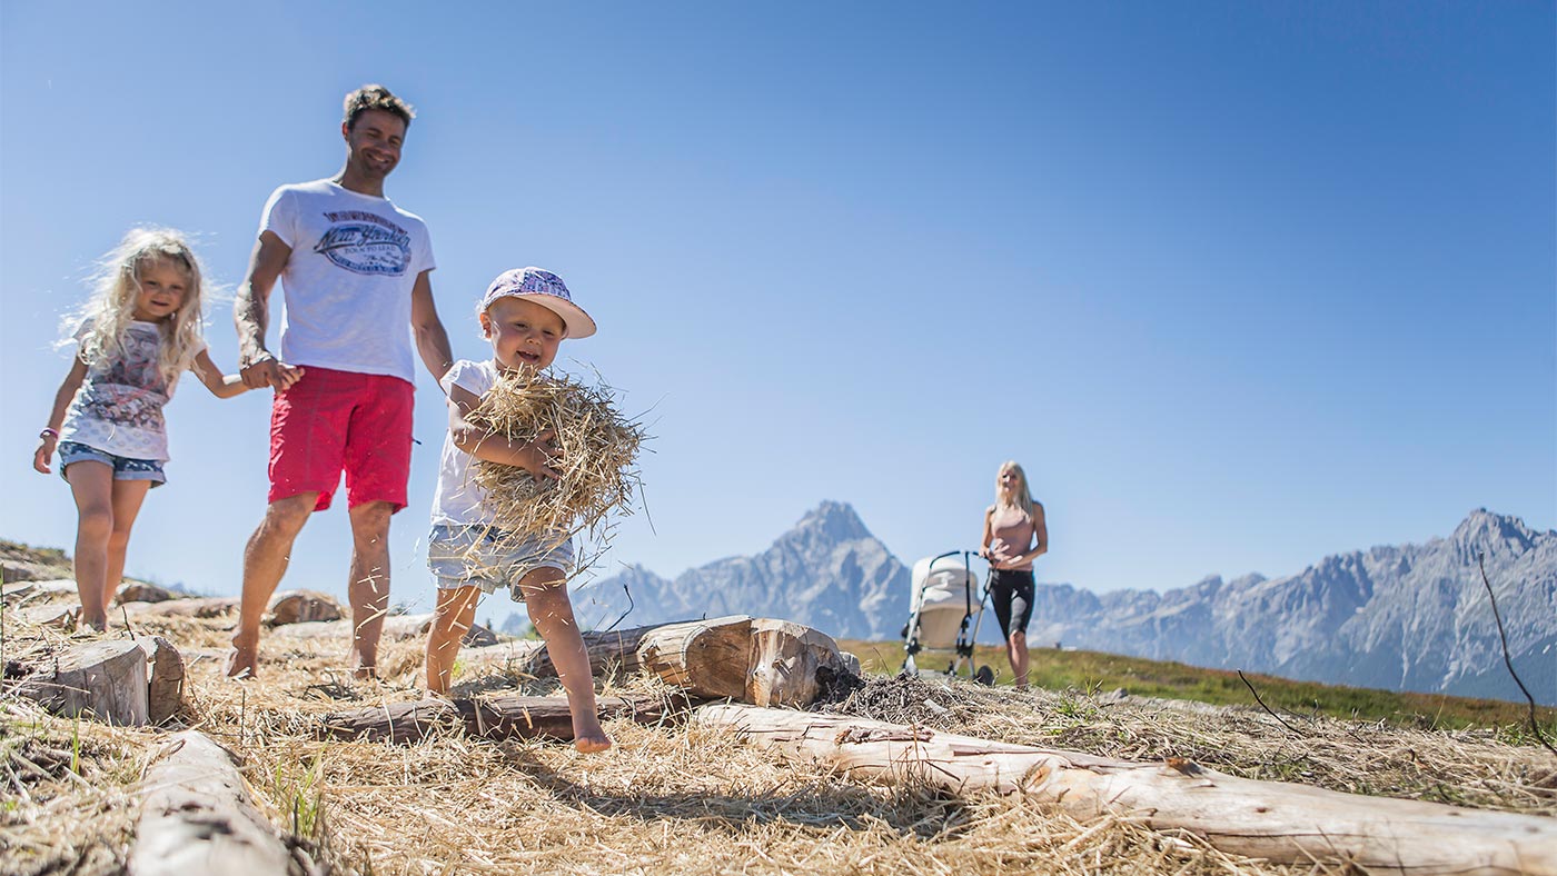
M434 524L427 535L427 568L439 590L480 587L483 593L508 588L514 602L523 602L518 588L526 574L551 568L568 574L573 568L573 540L547 548L540 538L525 538L484 524Z

